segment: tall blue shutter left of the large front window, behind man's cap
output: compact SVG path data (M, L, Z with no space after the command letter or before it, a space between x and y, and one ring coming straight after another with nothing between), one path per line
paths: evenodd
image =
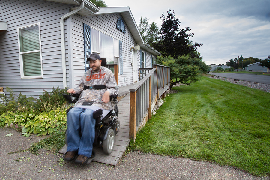
M91 28L87 24L83 24L84 32L84 61L85 61L85 71L90 69L90 62L87 58L91 54Z

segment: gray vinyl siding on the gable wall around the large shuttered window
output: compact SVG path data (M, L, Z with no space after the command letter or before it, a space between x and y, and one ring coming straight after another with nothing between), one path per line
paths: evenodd
M123 49L123 74L118 75L119 86L125 86L132 84L132 54L129 51L131 46L134 46L134 38L131 35L128 26L125 24L126 33L123 33L116 29L117 19L122 17L121 14L110 14L92 17L82 17L75 15L72 17L73 36L73 54L80 54L84 50L83 41L83 23L99 29L101 32L110 35L120 41L122 41ZM75 46L75 47L74 47ZM102 57L101 57L102 58ZM78 85L79 79L84 73L84 57L74 57L74 86ZM75 66L75 62L77 65ZM76 68L76 69L75 69ZM124 82L124 78L126 82Z

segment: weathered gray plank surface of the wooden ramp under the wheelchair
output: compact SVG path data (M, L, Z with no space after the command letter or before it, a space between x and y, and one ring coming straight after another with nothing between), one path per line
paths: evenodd
M125 97L122 98L118 104L118 108L119 108L118 120L120 122L120 128L119 128L118 133L115 136L113 152L110 155L106 155L103 153L103 150L101 148L94 147L93 149L96 152L94 161L116 166L116 164L120 161L123 154L125 153L130 142L130 139L129 139L129 100L130 99L129 98L130 98L129 94L125 95ZM58 152L62 154L66 153L67 146L65 145Z

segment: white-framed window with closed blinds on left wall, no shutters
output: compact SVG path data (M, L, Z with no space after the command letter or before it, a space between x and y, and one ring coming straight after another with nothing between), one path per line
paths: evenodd
M42 78L40 23L18 28L22 79Z

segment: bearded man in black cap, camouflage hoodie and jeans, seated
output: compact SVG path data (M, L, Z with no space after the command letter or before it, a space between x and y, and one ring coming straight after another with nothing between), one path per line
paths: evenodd
M100 56L92 53L87 61L90 61L90 69L80 79L78 87L67 90L68 93L80 96L74 108L67 113L67 152L64 159L79 164L86 164L94 158L95 108L111 110L110 95L118 94L113 72L101 66Z

